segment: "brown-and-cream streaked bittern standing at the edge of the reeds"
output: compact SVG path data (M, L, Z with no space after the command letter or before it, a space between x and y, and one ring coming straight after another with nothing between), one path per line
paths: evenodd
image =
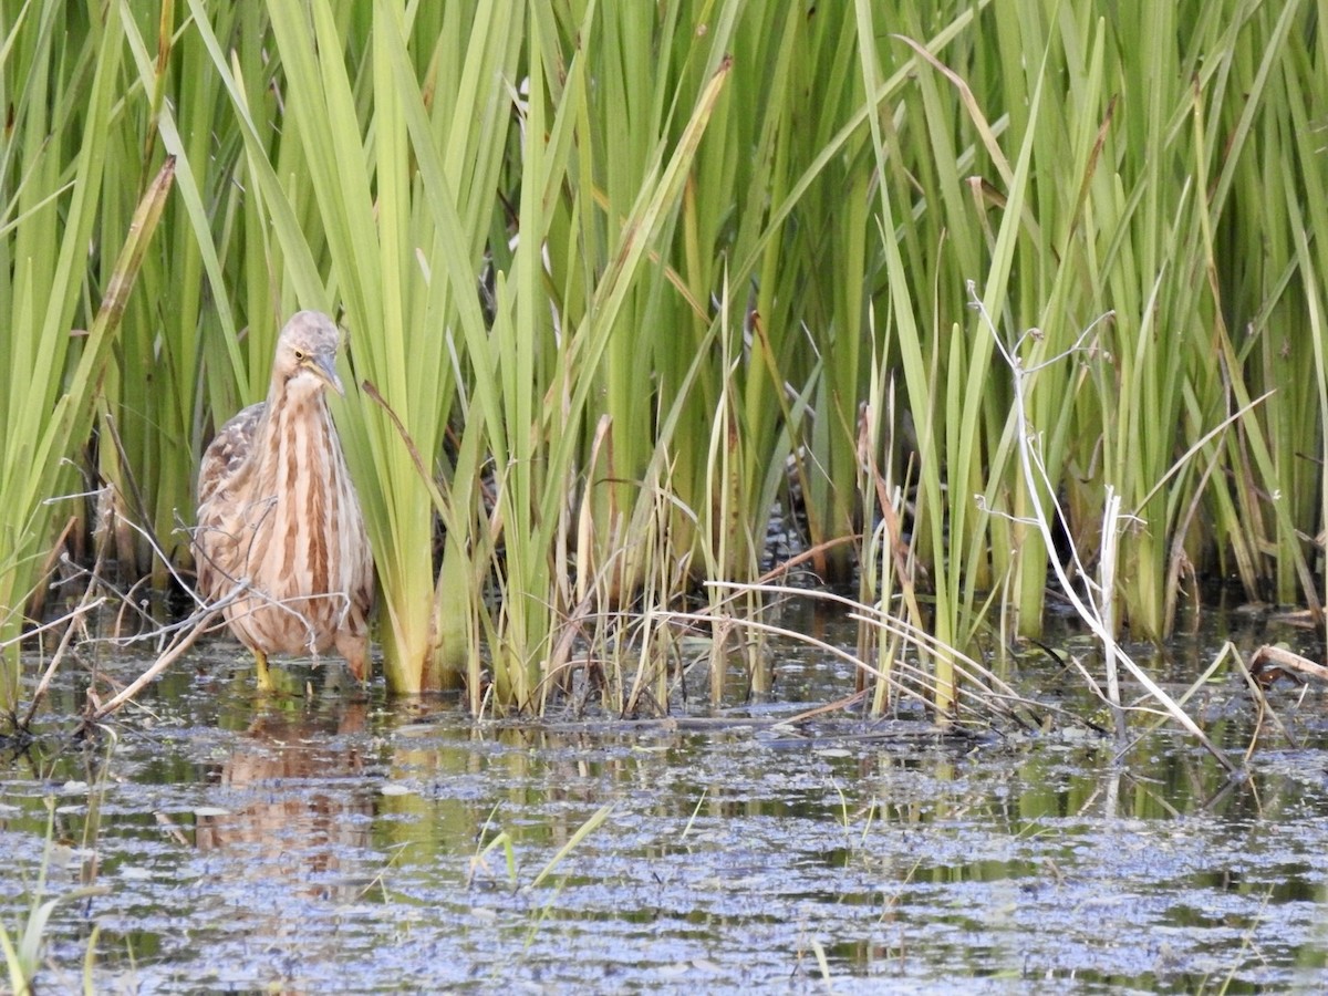
M271 653L336 648L364 681L373 606L373 554L324 390L340 335L316 311L292 317L276 341L267 401L231 418L198 471L198 587L226 606L231 632L254 652L259 688Z

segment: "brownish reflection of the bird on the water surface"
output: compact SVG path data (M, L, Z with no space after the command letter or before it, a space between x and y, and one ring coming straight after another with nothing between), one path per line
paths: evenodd
M260 708L208 773L212 805L197 815L198 850L238 859L216 871L308 898L360 895L373 874L363 866L373 815L361 777L367 714L367 703L347 701Z

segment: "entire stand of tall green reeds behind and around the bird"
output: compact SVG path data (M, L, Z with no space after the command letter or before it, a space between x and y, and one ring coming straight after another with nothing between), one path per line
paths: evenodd
M777 506L823 579L865 564L967 655L1040 629L1053 494L1081 551L1121 495L1139 636L1197 576L1321 602L1321 4L62 11L0 3L0 640L93 424L98 535L130 575L165 562L127 522L183 566L198 454L299 307L348 331L335 416L398 692L539 709L632 651L607 701L660 703L679 649L636 610L758 576ZM110 351L97 301L166 155ZM1037 368L1032 490L969 282Z

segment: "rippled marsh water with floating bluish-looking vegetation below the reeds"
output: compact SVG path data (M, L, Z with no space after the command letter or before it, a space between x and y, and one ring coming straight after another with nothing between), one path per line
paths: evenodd
M849 691L802 651L777 653L798 701L704 729L478 726L335 689L258 705L232 660L206 648L96 749L0 768L0 922L27 911L48 802L48 894L105 888L57 910L44 991L81 985L94 927L98 992L1328 985L1317 691L1275 693L1295 746L1266 729L1228 784L1167 733L1120 766L1078 730L772 726ZM1239 688L1204 706L1238 750Z

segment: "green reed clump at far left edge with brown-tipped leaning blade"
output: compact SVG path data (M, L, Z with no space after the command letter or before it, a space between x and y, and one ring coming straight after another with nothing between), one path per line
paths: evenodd
M120 125L120 9L81 25L61 9L25 4L3 32L0 100L15 138L0 163L0 710L11 716L23 610L41 594L52 534L68 534L64 521L80 515L77 502L54 501L82 490L66 457L86 444L104 404L112 347L174 169L167 159L137 175L120 191L129 214L98 224L104 187L116 179L108 162ZM86 270L89 258L100 274Z

